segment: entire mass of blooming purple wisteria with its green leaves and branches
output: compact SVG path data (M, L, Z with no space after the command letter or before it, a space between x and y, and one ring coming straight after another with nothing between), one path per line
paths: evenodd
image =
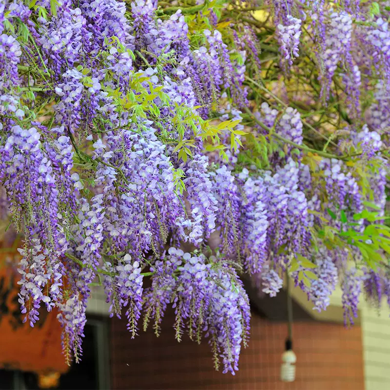
M24 321L57 312L78 362L98 284L130 337L171 306L176 339L234 374L244 273L270 296L291 277L317 311L339 284L346 323L361 291L389 303L388 18L371 0L2 1Z

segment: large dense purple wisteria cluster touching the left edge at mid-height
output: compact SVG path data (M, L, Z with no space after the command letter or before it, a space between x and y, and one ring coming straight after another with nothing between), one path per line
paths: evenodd
M59 183L50 156L41 149L38 129L13 126L11 131L1 149L4 165L0 177L5 179L8 199L12 199L15 226L19 231L30 229L42 243L47 243L54 268L58 256L67 248L59 220ZM59 165L62 166L62 161Z

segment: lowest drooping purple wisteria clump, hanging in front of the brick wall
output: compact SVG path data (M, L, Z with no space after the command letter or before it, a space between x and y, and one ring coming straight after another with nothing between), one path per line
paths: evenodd
M200 342L202 333L209 338L218 369L238 370L241 343L247 338L250 309L248 297L233 269L211 257L184 253L170 248L162 261L151 269L156 272L147 289L146 325L154 317L158 333L164 311L173 302L176 313L176 338L180 341L187 328L192 339Z

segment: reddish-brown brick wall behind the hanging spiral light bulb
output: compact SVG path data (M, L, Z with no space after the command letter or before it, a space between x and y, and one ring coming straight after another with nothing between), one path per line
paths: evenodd
M201 345L174 339L166 315L162 333L150 329L132 340L125 321L111 322L112 389L255 389L364 390L360 327L300 322L293 325L296 380L279 380L287 327L252 313L249 348L240 356L235 376L216 372L207 340Z

